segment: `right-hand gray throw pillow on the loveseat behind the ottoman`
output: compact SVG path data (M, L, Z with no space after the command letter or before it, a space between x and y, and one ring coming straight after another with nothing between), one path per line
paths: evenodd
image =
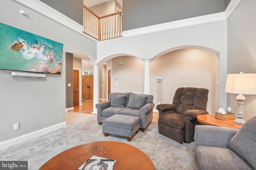
M134 94L134 93L130 92L127 107L131 108L131 109L140 109L140 107L145 105L147 98L148 98L148 96L144 96L141 94Z

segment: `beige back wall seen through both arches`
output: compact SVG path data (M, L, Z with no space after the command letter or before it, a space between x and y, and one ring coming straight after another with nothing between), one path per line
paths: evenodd
M112 92L143 94L144 62L129 56L115 57L110 61L113 71ZM120 61L125 64L120 65ZM158 102L172 103L177 88L197 87L209 90L207 111L214 114L219 107L219 87L216 85L218 62L216 55L199 49L172 51L152 61L150 86L154 96L154 109L156 110ZM157 82L157 77L162 77L162 82Z

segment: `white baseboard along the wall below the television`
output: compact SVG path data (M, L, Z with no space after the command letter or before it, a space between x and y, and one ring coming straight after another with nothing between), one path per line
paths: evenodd
M3 141L3 142L0 143L0 149L8 148L12 145L22 143L22 142L27 141L29 139L44 135L46 133L55 131L55 130L60 129L60 128L65 127L65 126L66 126L66 121L64 121L62 123L59 123L59 124L56 124L56 125L52 125L50 127L46 127L44 129L40 129L38 131L34 131L32 133L28 133L26 135L22 135L22 136L13 138L13 139L9 139L7 141Z

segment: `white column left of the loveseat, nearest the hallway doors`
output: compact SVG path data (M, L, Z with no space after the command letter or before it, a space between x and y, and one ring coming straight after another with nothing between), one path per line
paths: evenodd
M97 64L93 64L93 114L97 114L97 109L95 107L96 104L99 103L99 66Z

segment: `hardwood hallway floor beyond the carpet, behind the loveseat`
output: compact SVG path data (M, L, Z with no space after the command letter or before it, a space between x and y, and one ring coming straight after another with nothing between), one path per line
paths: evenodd
M102 102L100 100L99 102ZM74 107L74 110L68 111L66 113L66 122L67 125L70 123L73 123L74 121L78 121L80 119L84 119L84 116L79 113L85 113L85 114L92 114L93 111L93 101L87 101L87 102L82 102L83 106L76 106ZM76 112L75 114L69 114L72 112ZM94 115L94 114L92 114ZM158 113L153 113L153 121L158 121Z

